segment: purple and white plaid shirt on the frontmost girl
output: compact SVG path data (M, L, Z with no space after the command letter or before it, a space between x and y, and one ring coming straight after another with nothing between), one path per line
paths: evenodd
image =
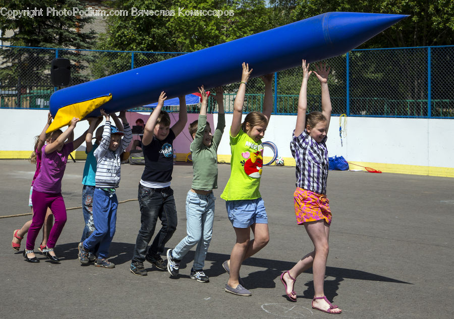
M326 136L320 143L310 137L306 130L300 136L295 131L290 150L296 162L296 186L318 194L326 194L328 178L328 149Z

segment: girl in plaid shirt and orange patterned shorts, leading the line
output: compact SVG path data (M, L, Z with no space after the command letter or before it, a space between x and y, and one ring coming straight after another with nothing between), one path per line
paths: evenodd
M314 250L302 257L291 270L283 272L280 280L289 300L297 301L297 294L294 291L295 280L301 273L312 267L315 291L312 307L327 313L341 313L342 310L331 304L323 292L331 224L329 201L325 195L328 175L328 150L325 142L331 117L328 91L330 69L326 69L326 64L320 64L316 69L317 72L309 71L309 64L306 66L306 61L303 60L303 82L298 100L298 116L290 143L296 161L297 189L294 193L294 202L297 223L306 228L314 244ZM320 81L322 112L306 115L307 81L312 72Z

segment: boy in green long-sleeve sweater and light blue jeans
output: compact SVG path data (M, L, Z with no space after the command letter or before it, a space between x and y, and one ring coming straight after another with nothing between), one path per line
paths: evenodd
M217 147L224 131L225 117L222 87L217 87L214 98L218 105L218 118L216 130L212 135L210 125L206 121L208 96L203 85L199 91L202 95L199 120L189 126L189 133L194 139L190 148L194 177L186 197L188 235L174 249L167 250L167 271L173 277L178 277L180 260L198 243L190 277L206 283L209 279L203 272L203 266L213 232L215 199L213 189L217 188Z

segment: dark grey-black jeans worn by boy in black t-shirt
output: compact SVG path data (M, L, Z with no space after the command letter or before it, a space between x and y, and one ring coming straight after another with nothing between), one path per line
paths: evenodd
M177 206L172 188L149 188L139 184L138 199L141 227L137 235L132 262L144 261L145 254L151 259L162 254L165 243L172 238L178 223ZM147 251L158 218L162 227Z

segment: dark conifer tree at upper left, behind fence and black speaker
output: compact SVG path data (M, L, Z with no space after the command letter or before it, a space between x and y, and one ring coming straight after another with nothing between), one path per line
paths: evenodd
M79 0L11 0L7 10L27 10L27 8L42 9L42 15L34 17L8 17L0 16L0 29L4 34L7 30L13 31L11 37L3 36L1 39L10 42L13 46L32 47L73 47L77 49L91 48L94 40L94 31L80 32L93 18L88 16L49 15L46 8L63 10L79 8L84 10ZM75 51L61 51L60 57L73 60L76 68L72 69L72 83L84 82L86 79L78 76L78 72L86 67L89 60L80 58ZM18 100L20 95L37 87L51 87L49 71L50 63L55 58L49 50L33 48L4 48L1 50L2 68L0 69L0 82L3 87L16 87ZM77 58L74 58L77 57Z

